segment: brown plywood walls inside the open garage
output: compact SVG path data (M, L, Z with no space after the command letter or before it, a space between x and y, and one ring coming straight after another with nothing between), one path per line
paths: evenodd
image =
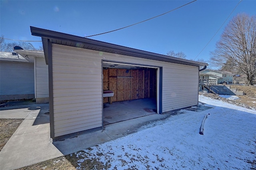
M156 69L104 68L103 90L112 90L112 102L156 97ZM109 102L109 98L103 98Z

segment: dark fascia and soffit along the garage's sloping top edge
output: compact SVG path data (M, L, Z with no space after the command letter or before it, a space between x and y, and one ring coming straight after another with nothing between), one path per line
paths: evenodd
M67 41L67 42L72 42L72 43L82 43L85 45L90 45L90 47L97 47L100 49L114 50L115 53L120 54L120 55L123 55L122 53L126 53L126 55L128 54L129 56L132 56L132 57L152 59L152 60L156 60L156 61L165 61L165 62L169 62L169 63L178 63L178 64L185 64L185 65L191 65L191 66L205 66L205 65L208 66L207 63L200 63L200 62L196 62L196 61L190 61L190 60L186 60L186 59L179 59L176 57L160 55L157 53L151 53L148 51L133 49L130 47L124 47L121 45L106 43L103 41L88 39L88 38L79 37L76 35L70 35L70 34L66 34L66 33L51 31L48 29L42 29L42 28L30 26L30 31L31 31L32 35L42 37L43 47L47 47L47 44L46 44L47 41L44 41L44 40L56 39L56 40ZM60 43L60 45L62 45L62 44ZM46 57L46 62L47 62L48 55L47 55L46 51L45 51L45 57Z

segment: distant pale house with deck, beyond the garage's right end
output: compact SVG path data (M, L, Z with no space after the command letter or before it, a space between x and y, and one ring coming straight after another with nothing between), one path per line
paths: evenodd
M231 72L216 71L216 70L202 70L199 72L199 84L202 89L202 84L231 84L233 82L233 74Z

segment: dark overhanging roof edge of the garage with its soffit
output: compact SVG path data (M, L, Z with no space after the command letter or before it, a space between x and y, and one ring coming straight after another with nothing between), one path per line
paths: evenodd
M42 37L46 64L48 64L48 41L49 41L51 43L59 44L59 45L66 45L71 47L78 47L83 49L102 51L105 53L126 55L126 56L138 57L143 59L151 59L156 61L165 61L169 63L185 64L185 65L191 65L191 66L208 65L206 63L200 63L196 61L190 61L186 59L179 59L176 57L160 55L160 54L151 53L148 51L142 51L142 50L133 49L130 47L124 47L121 45L115 45L111 43L97 41L94 39L88 39L88 38L79 37L76 35L60 33L56 31L51 31L51 30L32 27L32 26L30 26L30 30L32 35Z

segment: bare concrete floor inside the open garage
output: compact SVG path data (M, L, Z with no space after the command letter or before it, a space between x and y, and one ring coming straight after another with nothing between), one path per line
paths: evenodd
M146 98L103 105L103 125L156 114L156 99Z

